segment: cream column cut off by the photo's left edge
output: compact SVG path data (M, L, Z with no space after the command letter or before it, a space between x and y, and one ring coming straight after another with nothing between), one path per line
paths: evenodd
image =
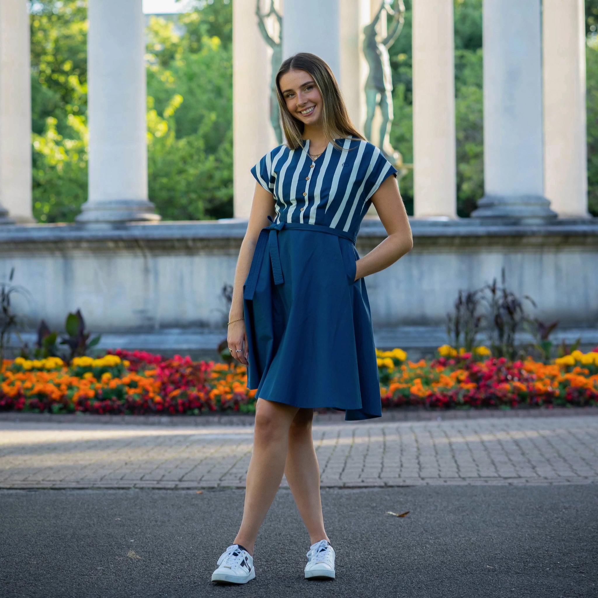
M0 0L0 224L33 222L31 69L25 0Z

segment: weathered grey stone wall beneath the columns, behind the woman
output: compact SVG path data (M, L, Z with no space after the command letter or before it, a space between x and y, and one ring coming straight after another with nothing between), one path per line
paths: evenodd
M413 251L365 278L374 329L386 339L382 344L417 345L427 335L419 344L434 346L459 289L499 278L502 267L509 288L536 301L533 313L540 319L559 320L561 332L586 331L587 342L596 337L598 343L593 219L535 227L411 219L411 226ZM28 299L15 297L14 307L32 330L41 319L62 329L66 313L81 309L87 326L114 342L184 350L202 347L204 338L211 347L225 329L228 304L221 291L233 283L245 230L240 219L2 227L0 280L14 266L13 282L30 293ZM385 237L379 219L365 218L359 255ZM187 340L178 343L181 335Z

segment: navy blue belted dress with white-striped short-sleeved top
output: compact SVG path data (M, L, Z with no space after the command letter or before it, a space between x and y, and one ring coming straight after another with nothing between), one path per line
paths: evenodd
M355 239L395 167L370 142L330 142L316 160L309 139L279 145L251 169L275 202L243 285L249 389L295 407L331 407L346 420L382 415L365 280Z

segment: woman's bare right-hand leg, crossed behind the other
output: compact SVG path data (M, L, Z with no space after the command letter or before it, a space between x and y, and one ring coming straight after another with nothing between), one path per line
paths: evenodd
M328 540L320 497L320 469L312 440L313 409L300 409L289 428L285 477L307 527L310 543Z

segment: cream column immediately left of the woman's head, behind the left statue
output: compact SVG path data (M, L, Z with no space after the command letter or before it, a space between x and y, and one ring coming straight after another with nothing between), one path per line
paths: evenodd
M268 4L269 5L269 4ZM263 8L266 8L264 3ZM272 50L258 29L255 1L233 2L233 213L249 218L251 167L277 145L270 124Z

